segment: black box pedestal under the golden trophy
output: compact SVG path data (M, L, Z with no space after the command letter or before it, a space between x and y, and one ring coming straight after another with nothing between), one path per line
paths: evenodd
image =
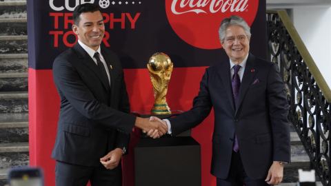
M134 174L135 186L201 186L201 147L192 137L141 138Z

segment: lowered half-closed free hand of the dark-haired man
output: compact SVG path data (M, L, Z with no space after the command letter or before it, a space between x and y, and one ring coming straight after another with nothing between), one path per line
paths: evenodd
M100 158L100 162L106 169L114 169L119 165L119 161L123 155L123 149L116 148L109 152L103 158Z

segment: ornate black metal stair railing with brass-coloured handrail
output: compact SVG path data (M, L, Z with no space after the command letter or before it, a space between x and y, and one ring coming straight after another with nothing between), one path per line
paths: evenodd
M294 126L321 183L329 185L331 91L285 10L267 11L268 57L279 64Z

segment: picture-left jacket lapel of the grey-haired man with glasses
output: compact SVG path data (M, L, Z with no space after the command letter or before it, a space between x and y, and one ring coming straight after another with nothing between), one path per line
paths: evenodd
M225 92L228 95L230 105L232 107L232 110L234 110L234 101L233 101L232 86L231 86L231 79L230 79L230 61L229 60L226 60L226 61L224 61L224 63L222 63L221 69L219 70L219 72L220 72L220 76L222 79L222 83L223 83Z

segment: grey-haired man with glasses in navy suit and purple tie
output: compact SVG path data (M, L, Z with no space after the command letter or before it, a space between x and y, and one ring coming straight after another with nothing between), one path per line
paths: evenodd
M176 136L214 107L211 174L217 185L278 185L283 163L290 162L285 85L276 63L249 53L250 36L241 17L223 19L219 39L230 60L205 70L191 110L168 121L152 118Z

